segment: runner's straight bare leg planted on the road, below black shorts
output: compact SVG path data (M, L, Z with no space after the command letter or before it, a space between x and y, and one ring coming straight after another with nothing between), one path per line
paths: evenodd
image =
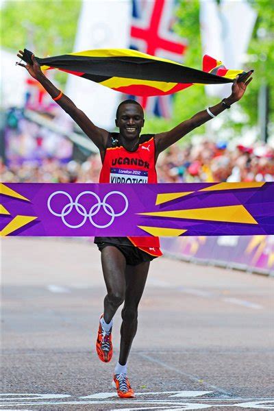
M149 261L125 269L125 303L122 310L119 364L125 365L137 331L138 304L145 288Z

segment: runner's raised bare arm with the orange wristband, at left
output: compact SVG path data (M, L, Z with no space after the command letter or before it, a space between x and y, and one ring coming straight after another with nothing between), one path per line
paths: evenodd
M23 51L18 51L18 58L22 58ZM60 107L67 112L71 118L79 125L79 127L83 130L83 132L95 143L95 145L99 148L99 151L104 151L106 142L108 140L108 132L105 129L97 127L95 124L88 119L86 114L79 110L75 103L69 99L66 95L64 95L58 88L54 86L50 82L50 80L42 73L40 69L40 64L36 61L34 54L32 54L32 64L23 64L17 63L18 66L25 67L29 72L29 75L34 77L44 88L45 90L51 95L53 100L56 101L60 105Z

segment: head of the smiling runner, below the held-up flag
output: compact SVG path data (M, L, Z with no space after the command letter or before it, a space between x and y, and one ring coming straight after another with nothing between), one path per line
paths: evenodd
M116 126L120 129L120 134L128 140L134 140L140 136L144 125L144 112L140 105L123 104L119 108Z

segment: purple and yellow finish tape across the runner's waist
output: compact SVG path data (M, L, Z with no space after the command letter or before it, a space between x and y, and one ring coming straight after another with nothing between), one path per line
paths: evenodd
M0 188L1 236L274 234L274 183L7 183Z

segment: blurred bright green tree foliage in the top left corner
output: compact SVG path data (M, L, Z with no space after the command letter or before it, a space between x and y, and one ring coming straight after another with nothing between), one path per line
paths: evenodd
M38 55L60 55L73 50L81 1L7 1L1 10L2 46L30 49ZM14 55L14 58L16 55ZM64 83L66 75L59 73Z

